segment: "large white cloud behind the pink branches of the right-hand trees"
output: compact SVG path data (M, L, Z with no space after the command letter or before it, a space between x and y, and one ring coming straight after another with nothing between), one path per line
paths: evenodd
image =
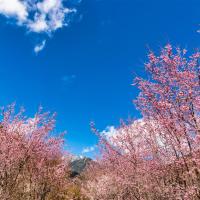
M138 151L143 150L145 145L148 148L149 142L154 142L159 148L165 148L166 138L162 131L163 128L155 121L138 119L118 129L108 126L101 134L111 145L118 147L124 153L129 153L135 147ZM141 144L143 148L140 148Z

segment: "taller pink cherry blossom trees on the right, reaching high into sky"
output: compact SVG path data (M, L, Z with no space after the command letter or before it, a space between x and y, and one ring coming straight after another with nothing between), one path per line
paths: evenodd
M166 45L148 57L147 80L134 81L143 118L109 138L93 127L101 158L88 173L91 199L200 198L200 53Z

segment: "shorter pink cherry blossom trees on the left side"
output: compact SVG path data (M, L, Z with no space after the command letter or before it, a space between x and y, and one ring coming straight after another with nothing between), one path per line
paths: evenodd
M55 117L39 111L33 118L2 110L0 123L0 198L67 199L69 155L62 136L51 136Z

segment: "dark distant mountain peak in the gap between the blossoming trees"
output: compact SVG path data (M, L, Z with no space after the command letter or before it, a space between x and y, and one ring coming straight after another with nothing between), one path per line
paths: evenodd
M87 165L91 162L92 162L92 159L87 158L87 157L84 157L84 158L79 157L79 158L74 159L70 164L71 177L73 178L80 175L85 170Z

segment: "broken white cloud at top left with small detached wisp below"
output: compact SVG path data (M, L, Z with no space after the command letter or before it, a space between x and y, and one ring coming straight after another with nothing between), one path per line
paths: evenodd
M29 33L49 37L56 30L68 26L72 14L76 13L76 9L65 6L64 1L0 0L0 15L7 20L14 19L17 26L25 27ZM35 46L36 53L43 49L38 48L39 45Z

